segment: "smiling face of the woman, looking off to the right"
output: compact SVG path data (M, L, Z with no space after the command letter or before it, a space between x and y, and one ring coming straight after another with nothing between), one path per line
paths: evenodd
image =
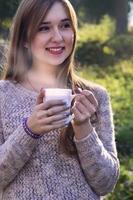
M33 66L58 66L70 55L74 32L70 18L59 2L56 2L31 43Z

